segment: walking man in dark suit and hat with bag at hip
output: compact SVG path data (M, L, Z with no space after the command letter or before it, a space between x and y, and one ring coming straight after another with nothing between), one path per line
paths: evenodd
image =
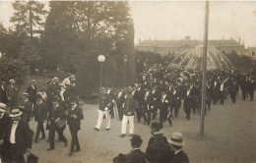
M63 135L63 131L66 128L66 125L63 127L58 127L57 123L59 121L63 121L66 118L66 114L64 112L64 109L59 105L58 98L53 97L52 99L52 108L50 109L47 124L49 126L49 141L50 141L50 148L47 150L54 149L54 138L55 138L55 132L57 132L59 139L65 143L65 146L68 146L68 140Z

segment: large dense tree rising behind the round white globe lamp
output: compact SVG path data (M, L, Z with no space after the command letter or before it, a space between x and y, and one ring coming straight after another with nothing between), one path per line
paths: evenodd
M123 56L128 55L127 79L134 79L134 27L127 2L51 1L49 6L41 50L47 68L55 69L52 66L58 65L68 72L85 70L82 76L87 76L87 73L96 75L94 69L78 68L87 62L98 65L93 59L104 54L107 56L104 63L108 70L106 78L123 83ZM84 62L84 57L90 61ZM83 87L88 86L85 82L81 83Z

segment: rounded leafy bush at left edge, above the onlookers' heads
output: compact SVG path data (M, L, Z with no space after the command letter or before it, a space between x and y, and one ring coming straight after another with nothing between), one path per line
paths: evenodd
M15 79L18 84L22 84L25 80L27 71L27 67L19 59L12 59L4 56L0 61L1 81Z

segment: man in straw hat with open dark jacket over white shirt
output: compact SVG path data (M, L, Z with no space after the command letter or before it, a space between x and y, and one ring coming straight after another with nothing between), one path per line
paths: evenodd
M32 148L32 130L29 125L21 119L22 112L19 109L13 109L10 117L13 122L8 126L7 139L11 147L11 162L25 163L24 154L31 154Z

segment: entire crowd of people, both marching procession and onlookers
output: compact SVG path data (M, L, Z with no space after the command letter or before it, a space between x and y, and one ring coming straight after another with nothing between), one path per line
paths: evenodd
M234 70L213 70L208 71L207 79L205 114L210 111L211 105L219 102L224 105L228 95L235 103L239 88L242 91L242 100L248 97L251 101L253 100L255 87L253 73L239 74ZM114 162L125 159L124 162L136 163L140 161L134 159L139 157L154 163L162 163L163 161L160 160L163 158L171 162L178 162L175 161L176 159L184 159L185 161L181 162L188 162L187 156L182 151L181 134L173 134L168 141L163 138L158 142L160 144L155 144L153 139L162 137L160 130L164 126L163 123L167 122L169 127L174 125L172 120L179 117L180 108L183 108L188 121L191 113L201 113L201 83L200 71L155 64L145 69L137 81L127 87L120 89L110 86L102 87L99 92L98 117L94 130L99 132L101 123L105 119L105 131L110 131L110 121L116 116L121 121L120 137L126 136L129 126L128 136L132 137L131 145L134 149L130 154L119 154L114 158ZM68 140L63 135L66 124L72 136L69 155L72 156L74 152L81 150L77 135L84 115L79 106L74 75L69 74L62 82L55 77L39 91L36 89L36 81L32 80L27 91L22 92L21 101L18 98L19 92L15 80L10 80L8 85L6 81L1 82L0 153L2 162L25 162L24 154L31 154L33 133L35 133L33 142L36 143L46 138L45 130L48 131L47 151L55 148L55 133L58 140L63 141L64 146L68 146ZM7 108L10 109L10 114ZM35 131L30 128L32 119L37 123ZM139 149L142 143L141 137L134 135L135 119L138 123L152 127L153 138L149 142L146 154ZM46 123L46 129L44 129L44 123ZM155 145L150 145L151 143ZM162 149L164 147L165 149ZM153 154L155 150L159 153L156 156ZM163 151L168 153L169 158L165 158L167 155L160 154ZM177 155L181 158L175 158Z

